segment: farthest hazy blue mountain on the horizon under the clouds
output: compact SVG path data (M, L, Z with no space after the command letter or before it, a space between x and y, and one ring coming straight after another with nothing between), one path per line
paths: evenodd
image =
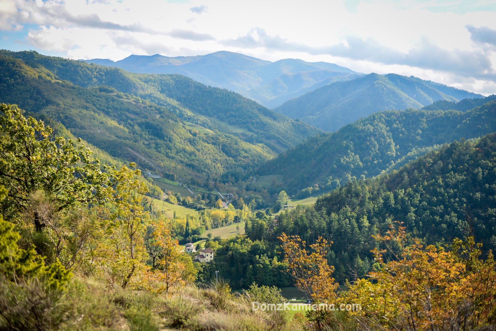
M116 62L107 59L86 62L137 73L183 74L210 86L239 92L268 108L325 84L361 75L332 63L295 59L270 62L226 51L190 57L131 55Z

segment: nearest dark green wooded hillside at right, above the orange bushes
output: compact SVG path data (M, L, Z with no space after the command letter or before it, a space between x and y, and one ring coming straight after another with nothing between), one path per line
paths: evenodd
M371 250L378 245L372 235L384 234L395 221L426 245L474 235L486 251L496 250L495 206L496 133L491 133L443 145L400 170L351 180L314 206L288 209L277 220L259 213L246 223L246 233L253 241L263 240L264 249L277 247L282 233L299 235L307 245L318 236L333 241L327 259L343 282L372 270ZM235 247L232 251L237 254Z

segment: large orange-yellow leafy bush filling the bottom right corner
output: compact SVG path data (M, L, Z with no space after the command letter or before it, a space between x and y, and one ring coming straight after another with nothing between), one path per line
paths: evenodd
M373 251L383 267L369 273L371 280L357 281L341 296L343 302L364 307L352 313L364 329L471 330L495 322L494 260L491 252L484 264L478 260L473 237L465 243L455 240L451 251L433 245L424 248L416 240L407 246L406 228L400 223L375 238L385 245L384 250ZM401 248L400 256L394 255L393 245ZM467 253L465 259L460 252ZM386 253L392 260L384 263Z

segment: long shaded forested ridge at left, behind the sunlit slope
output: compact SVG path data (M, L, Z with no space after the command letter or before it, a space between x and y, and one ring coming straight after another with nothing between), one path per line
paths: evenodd
M185 121L236 135L251 144L265 144L277 153L318 132L304 122L270 111L237 93L206 86L182 75L132 74L115 67L47 57L36 52L1 51L1 54L48 70L57 79L74 85L111 86L163 106Z

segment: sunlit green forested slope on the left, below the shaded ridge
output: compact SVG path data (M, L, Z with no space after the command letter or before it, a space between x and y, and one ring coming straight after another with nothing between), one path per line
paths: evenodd
M33 66L0 57L2 102L61 122L74 136L142 168L201 183L273 155L231 134L188 129L171 108L108 86L79 87Z

